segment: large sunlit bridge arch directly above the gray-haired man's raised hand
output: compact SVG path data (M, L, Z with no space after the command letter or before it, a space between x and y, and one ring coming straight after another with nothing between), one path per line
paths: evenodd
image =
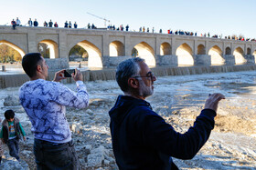
M225 60L222 56L222 51L218 45L212 46L208 50L208 55L211 57L211 65L224 65Z

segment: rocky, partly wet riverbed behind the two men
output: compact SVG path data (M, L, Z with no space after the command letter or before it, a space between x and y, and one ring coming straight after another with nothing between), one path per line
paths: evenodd
M112 153L108 111L122 91L114 81L87 82L90 106L67 108L67 117L82 169L118 169ZM75 85L67 85L75 90ZM208 142L192 160L174 162L180 169L255 169L256 168L256 72L157 77L155 94L147 99L156 113L185 133L208 94L222 93L216 125ZM14 109L27 133L20 143L22 161L16 162L5 147L0 169L36 169L31 124L18 104L18 88L0 90L0 118Z

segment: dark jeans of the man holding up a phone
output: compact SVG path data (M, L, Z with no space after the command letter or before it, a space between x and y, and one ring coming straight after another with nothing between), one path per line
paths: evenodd
M37 170L78 170L80 162L76 154L74 143L57 144L35 138L34 155Z

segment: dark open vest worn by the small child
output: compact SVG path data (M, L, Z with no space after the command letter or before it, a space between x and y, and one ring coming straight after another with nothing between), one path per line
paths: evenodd
M5 142L5 144L7 144L8 138L9 138L9 128L8 128L9 125L8 125L8 122L6 119L3 121L2 126L3 126L4 142ZM19 120L16 117L14 120L14 126L15 126L15 131L16 131L16 139L19 140L21 138L21 129L20 129L20 125L19 125Z

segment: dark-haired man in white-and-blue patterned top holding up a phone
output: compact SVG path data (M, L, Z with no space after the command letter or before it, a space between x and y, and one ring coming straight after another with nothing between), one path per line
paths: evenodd
M52 82L46 80L48 65L39 53L25 55L22 67L30 81L20 87L19 99L35 135L37 169L80 169L65 115L66 106L85 108L89 104L80 71L76 69L72 74L78 90L75 93L59 83L65 79L64 70L57 72Z

